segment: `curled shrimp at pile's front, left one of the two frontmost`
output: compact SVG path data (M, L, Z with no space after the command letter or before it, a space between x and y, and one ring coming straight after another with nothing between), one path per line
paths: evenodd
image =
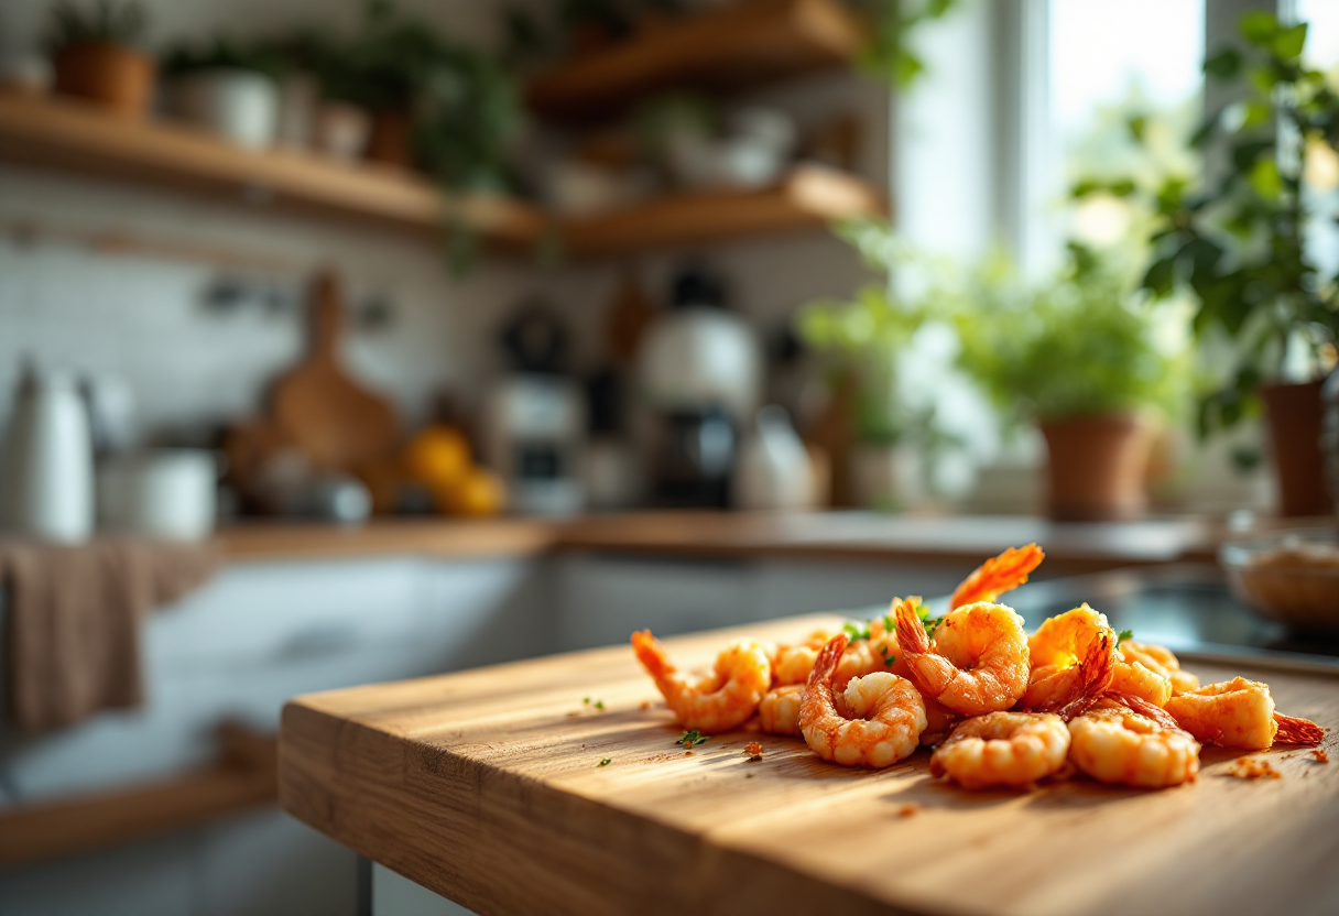
M1030 786L1065 766L1070 730L1046 712L991 712L960 722L929 758L931 775L964 789Z

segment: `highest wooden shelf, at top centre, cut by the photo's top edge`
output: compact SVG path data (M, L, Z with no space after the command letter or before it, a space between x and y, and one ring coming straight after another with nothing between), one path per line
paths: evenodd
M554 119L595 119L670 88L735 91L830 70L861 47L840 0L747 0L538 75L528 103Z

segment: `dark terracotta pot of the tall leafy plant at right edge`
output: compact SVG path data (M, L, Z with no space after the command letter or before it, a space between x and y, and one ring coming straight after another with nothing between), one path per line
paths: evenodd
M1306 382L1260 388L1279 483L1279 514L1283 516L1328 516L1334 512L1326 491L1326 463L1320 451L1322 384Z

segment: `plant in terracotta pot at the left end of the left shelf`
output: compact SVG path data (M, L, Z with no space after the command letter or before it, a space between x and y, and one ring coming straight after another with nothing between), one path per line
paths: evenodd
M56 91L95 102L122 118L142 119L154 88L153 58L135 47L145 25L137 3L58 3L47 36Z

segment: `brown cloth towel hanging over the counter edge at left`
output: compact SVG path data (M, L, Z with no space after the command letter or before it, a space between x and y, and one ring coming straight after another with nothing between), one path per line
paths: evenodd
M220 561L213 544L0 540L15 724L55 729L143 702L141 620L202 585Z

